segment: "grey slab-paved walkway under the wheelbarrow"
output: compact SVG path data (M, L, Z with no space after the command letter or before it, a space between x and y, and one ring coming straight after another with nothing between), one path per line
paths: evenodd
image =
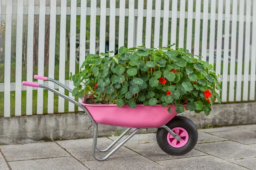
M92 139L3 145L0 170L256 170L256 125L198 133L198 144L183 156L164 153L150 133L135 135L107 161L93 159ZM99 147L114 139L99 138Z

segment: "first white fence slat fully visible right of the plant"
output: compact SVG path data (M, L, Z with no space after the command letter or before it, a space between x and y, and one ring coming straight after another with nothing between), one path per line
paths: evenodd
M225 1L225 28L224 28L224 54L223 54L223 78L221 101L227 102L227 71L229 57L229 41L230 41L230 0Z

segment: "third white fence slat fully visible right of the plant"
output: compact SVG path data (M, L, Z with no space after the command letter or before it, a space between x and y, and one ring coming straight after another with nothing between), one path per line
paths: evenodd
M237 81L236 81L236 101L241 101L242 84L242 62L243 62L243 42L244 42L244 1L239 0L239 30L238 30L238 52L237 52Z

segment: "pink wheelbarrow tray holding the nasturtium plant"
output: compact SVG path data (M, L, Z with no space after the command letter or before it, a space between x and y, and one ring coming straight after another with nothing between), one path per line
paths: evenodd
M121 127L161 127L177 115L175 105L164 108L162 105L137 105L136 108L130 108L128 105L122 107L117 107L117 105L90 105L85 104L84 101L82 105L90 112L95 122ZM172 113L167 111L169 107L172 108Z

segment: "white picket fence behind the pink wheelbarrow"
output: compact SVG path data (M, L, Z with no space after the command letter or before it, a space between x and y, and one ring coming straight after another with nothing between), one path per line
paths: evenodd
M119 2L119 8L116 8L116 1ZM67 6L67 0L61 0L61 6L57 6L56 0L51 0L50 6L46 6L46 0L40 0L40 6L35 6L34 0L28 0L28 4L25 4L23 0L2 0L0 14L1 18L6 20L4 73L2 73L4 74L4 83L0 83L0 92L4 92L4 116L10 116L11 91L15 91L15 116L21 115L21 91L26 91L26 115L32 115L32 88L21 85L23 16L28 16L27 31L29 33L26 44L26 80L32 81L34 15L38 14L38 75L43 76L44 74L45 17L50 15L49 77L54 78L56 16L60 15L59 81L70 88L74 86L72 82L65 80L65 69L75 72L76 17L80 16L80 30L86 30L87 16L90 16L90 37L86 37L86 31L80 31L79 64L81 65L85 59L87 47L85 40L90 39L90 53L96 52L96 16L100 16L100 52L105 51L106 36L109 39L109 50L113 51L116 37L118 37L118 46L120 47L124 45L125 34L128 34L128 48L137 45L145 45L150 48L152 41L154 41L153 46L158 47L160 44L164 46L178 40L176 47L185 46L189 51L193 50L196 55L209 56L209 58L204 57L203 59L212 65L216 64L216 73L222 73L223 92L221 98L223 102L227 102L227 97L228 102L255 100L256 0L128 0L128 6L125 6L125 0L100 0L100 6L97 6L97 0L91 0L90 5L87 6L87 4L87 0L81 0L80 6L77 6L77 0L71 0L71 6ZM14 15L17 15L16 75L15 82L10 82L12 16ZM65 68L67 16L70 16L69 68ZM108 34L106 34L106 17L109 17L110 25ZM117 17L119 23L116 25ZM128 32L125 32L125 20L127 19ZM143 20L145 25L143 25ZM116 31L117 28L119 28L118 31ZM193 32L193 28L195 28L195 32ZM153 34L151 35L151 33ZM167 36L169 33L171 33L171 37ZM143 34L145 34L145 39ZM152 38L153 35L154 38ZM160 40L162 40L161 43ZM221 64L223 64L222 71ZM228 65L230 65L230 74L228 74ZM242 71L244 71L243 74ZM38 80L38 83L43 83L43 81ZM51 82L44 83L59 88ZM37 89L33 88L33 90ZM64 93L63 88L59 88L59 91ZM70 94L70 96L72 95ZM53 107L53 94L49 93L48 113L53 113ZM69 103L68 111L74 111L72 103ZM58 98L58 112L64 112L64 99L61 97ZM37 114L43 114L42 89L38 89Z

